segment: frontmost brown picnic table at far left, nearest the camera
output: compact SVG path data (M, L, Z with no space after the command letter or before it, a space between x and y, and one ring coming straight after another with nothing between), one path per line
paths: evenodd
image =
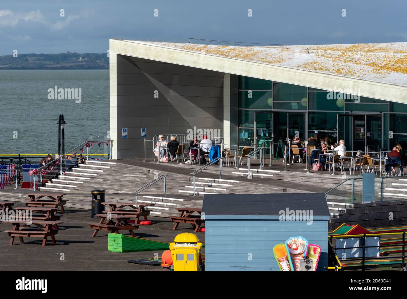
M42 246L44 247L47 238L50 236L52 243L55 244L55 235L58 233L58 229L54 229L54 225L61 224L61 221L42 221L42 220L33 220L31 222L21 222L19 220L4 221L4 223L12 223L13 230L5 230L7 234L11 237L10 245L14 243L14 237L20 238L20 243L24 243L23 237L41 237ZM35 228L32 228L31 225L35 225Z

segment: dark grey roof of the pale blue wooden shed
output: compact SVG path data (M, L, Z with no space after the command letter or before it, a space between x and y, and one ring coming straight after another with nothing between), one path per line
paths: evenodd
M328 216L324 193L206 194L202 211L208 215L280 216L280 211L312 210L313 216Z

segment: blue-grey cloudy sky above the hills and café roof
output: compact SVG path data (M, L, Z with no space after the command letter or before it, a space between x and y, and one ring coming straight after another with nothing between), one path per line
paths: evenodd
M0 0L0 55L13 50L102 53L109 49L109 38L284 45L402 42L407 41L406 11L406 0Z

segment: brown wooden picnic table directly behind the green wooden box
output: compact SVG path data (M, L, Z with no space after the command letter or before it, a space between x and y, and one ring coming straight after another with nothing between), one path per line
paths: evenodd
M130 224L129 216L117 215L117 214L97 214L101 220L99 222L88 222L90 228L94 228L95 231L92 237L96 237L99 230L107 230L114 234L118 234L120 230L128 230L131 236L135 237L133 230L137 230L138 224ZM116 222L115 222L116 221Z

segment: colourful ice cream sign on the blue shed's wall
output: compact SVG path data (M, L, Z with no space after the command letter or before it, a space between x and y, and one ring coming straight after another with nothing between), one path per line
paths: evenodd
M321 247L298 236L274 246L273 253L280 271L316 271Z

